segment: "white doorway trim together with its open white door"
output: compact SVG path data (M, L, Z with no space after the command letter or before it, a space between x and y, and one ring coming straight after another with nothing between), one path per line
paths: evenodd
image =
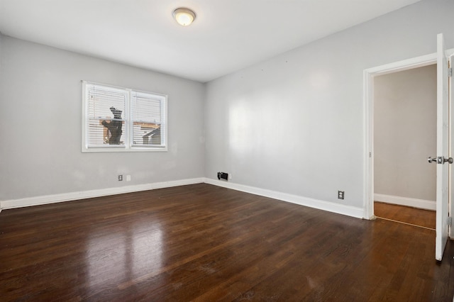
M449 179L453 179L453 169L450 164L453 160L454 140L452 137L454 106L449 106L453 99L452 67L454 49L445 50L443 34L437 35L437 52L431 55L414 57L409 60L394 62L387 65L373 67L364 70L364 218L374 219L374 81L375 77L393 72L400 72L416 67L424 67L436 64L437 66L437 123L436 123L436 155L428 158L428 161L436 164L436 245L435 258L441 261L443 250L448 237L453 237L453 228L450 227L452 213L454 212L453 199L454 190L450 189ZM451 134L450 134L451 133ZM430 156L430 155L429 155ZM399 159L396 159L397 163Z

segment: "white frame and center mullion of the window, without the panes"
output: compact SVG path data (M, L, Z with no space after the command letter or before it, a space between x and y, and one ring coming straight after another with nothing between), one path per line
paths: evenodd
M87 100L87 85L104 86L111 89L125 91L126 102L124 108L124 144L123 145L96 145L89 146L89 100ZM160 100L162 106L161 115L161 145L135 145L133 142L133 113L131 112L131 102L133 93L149 94L153 99ZM82 152L167 152L167 95L155 92L140 91L121 86L101 84L96 82L82 81Z

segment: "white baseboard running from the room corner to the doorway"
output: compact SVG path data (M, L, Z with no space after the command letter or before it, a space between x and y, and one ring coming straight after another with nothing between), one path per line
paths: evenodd
M287 201L289 203L296 203L300 206L309 206L311 208L317 208L319 210L328 211L332 213L338 213L345 216L351 216L355 218L364 218L364 210L362 208L356 208L353 206L344 206L338 203L332 203L328 201L320 201L314 198L307 198L303 196L297 196L278 191L272 191L267 189L260 189L254 186L245 186L243 184L234 184L232 182L219 181L216 179L205 178L206 184L214 184L215 186L223 186L224 188L233 189L237 191L243 191L250 194L265 196L269 198L279 199L281 201Z

